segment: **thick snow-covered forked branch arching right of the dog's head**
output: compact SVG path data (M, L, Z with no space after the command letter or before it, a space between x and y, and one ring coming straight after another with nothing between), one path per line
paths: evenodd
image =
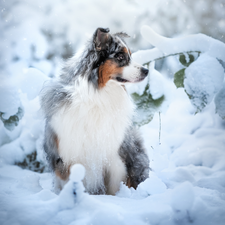
M140 50L132 55L133 59L141 64L172 55L194 52L207 53L209 56L225 62L224 43L204 34L166 38L157 34L149 26L143 26L141 28L141 34L150 44L155 46L153 49Z

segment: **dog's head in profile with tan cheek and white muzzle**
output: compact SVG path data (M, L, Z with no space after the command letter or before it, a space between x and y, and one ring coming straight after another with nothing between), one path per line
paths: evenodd
M132 60L131 51L124 41L127 37L125 33L110 34L108 28L95 31L93 48L97 60L92 69L97 69L99 88L104 87L109 80L120 84L135 83L148 75L148 69Z

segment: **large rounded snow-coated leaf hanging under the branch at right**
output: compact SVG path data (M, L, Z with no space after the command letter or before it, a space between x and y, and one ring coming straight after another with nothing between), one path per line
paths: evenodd
M224 70L214 58L201 55L185 70L184 87L198 110L210 103L222 87Z

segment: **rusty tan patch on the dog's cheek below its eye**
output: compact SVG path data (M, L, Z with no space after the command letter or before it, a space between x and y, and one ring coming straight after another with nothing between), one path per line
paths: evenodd
M115 77L117 74L122 74L123 67L118 67L116 62L108 59L98 70L98 86L102 88L106 83Z

